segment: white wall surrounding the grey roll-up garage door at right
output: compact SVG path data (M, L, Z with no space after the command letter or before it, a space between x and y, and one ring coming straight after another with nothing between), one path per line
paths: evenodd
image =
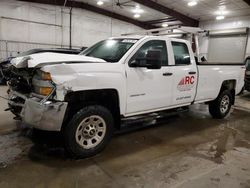
M250 28L250 16L228 18L220 21L212 20L212 21L200 22L200 28L206 30L232 29L232 28L242 28L242 27ZM246 48L246 56L250 56L250 32L248 36L249 37ZM201 54L206 57L208 53L208 44L209 44L208 37L203 37L200 41Z

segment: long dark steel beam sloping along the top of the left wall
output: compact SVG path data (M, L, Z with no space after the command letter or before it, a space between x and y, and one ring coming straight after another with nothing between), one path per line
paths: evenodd
M79 1L72 1L68 0L65 3L65 0L18 0L18 1L25 1L25 2L30 2L30 3L40 3L40 4L47 4L47 5L56 5L56 6L66 6L66 7L73 7L73 8L81 8L85 9L91 12L95 12L104 16L108 16L117 20L121 20L124 22L128 22L131 24L134 24L138 27L141 27L143 29L152 29L155 28L153 25L144 23L138 20L134 20L132 18L129 18L127 16L123 16L108 10L101 9L99 7L95 7L93 5L84 3L84 2L79 2Z

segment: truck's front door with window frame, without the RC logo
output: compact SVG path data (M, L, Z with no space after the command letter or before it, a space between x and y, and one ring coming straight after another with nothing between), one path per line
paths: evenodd
M143 59L148 50L161 50L161 69L131 67L135 59ZM141 112L154 111L171 104L172 73L168 67L168 52L165 40L148 40L141 44L127 59L127 108L126 115L136 115Z

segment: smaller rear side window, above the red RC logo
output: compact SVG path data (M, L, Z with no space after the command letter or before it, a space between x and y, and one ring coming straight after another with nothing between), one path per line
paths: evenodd
M174 50L175 65L190 65L190 54L188 47L182 42L172 42Z

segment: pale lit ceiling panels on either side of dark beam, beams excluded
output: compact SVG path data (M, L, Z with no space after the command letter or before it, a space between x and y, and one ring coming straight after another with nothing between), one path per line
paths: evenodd
M85 2L94 6L97 5L98 0L75 0L80 2ZM219 7L224 6L227 13L226 17L236 17L236 16L245 16L250 15L250 6L243 0L197 0L197 5L189 7L187 4L191 0L154 0L163 6L176 10L184 15L187 15L196 20L205 21L205 20L214 20L216 17L216 11L219 10ZM100 6L109 11L115 13L133 17L132 5L136 6L138 3L128 0L120 0L120 3L126 3L123 8L116 6L117 0L103 0L104 4ZM131 5L131 6L130 6ZM141 13L141 17L137 18L139 21L150 21L166 18L168 15L161 13L159 11L153 10L143 5L139 5L141 9L144 10ZM174 22L177 23L177 22Z

